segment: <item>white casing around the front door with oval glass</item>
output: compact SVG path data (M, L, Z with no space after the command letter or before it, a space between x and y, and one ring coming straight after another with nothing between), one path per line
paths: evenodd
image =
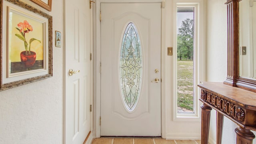
M96 41L95 41L95 44L96 44L96 49L94 51L94 55L95 55L95 58L94 58L94 66L95 66L95 71L94 71L94 77L95 77L95 82L96 84L94 85L95 87L95 90L94 90L94 97L95 97L95 105L96 105L96 109L94 110L95 112L95 137L96 138L99 138L100 137L100 89L101 89L101 85L100 85L100 81L101 81L101 78L100 78L100 61L101 61L101 52L100 52L100 49L101 49L101 43L100 43L100 32L101 32L101 29L100 29L100 4L101 3L162 3L162 8L164 8L164 4L165 4L165 0L97 0L96 1L96 16L94 17L95 20L94 22L96 23L96 31L95 31L95 38L96 38ZM162 15L163 15L163 10L162 10ZM163 20L162 20L163 21ZM164 37L164 27L163 27L163 22L162 22L162 32L161 32L161 35L162 35L162 39ZM161 40L161 61L163 62L164 60L164 48L162 47L163 45L163 40ZM164 79L165 77L165 74L164 74L164 67L163 67L163 63L161 63L161 78ZM162 89L161 89L161 111L162 111L162 114L161 114L161 121L162 121L162 124L161 124L161 129L162 129L162 138L165 138L166 136L166 132L165 132L165 86L163 85L162 83Z

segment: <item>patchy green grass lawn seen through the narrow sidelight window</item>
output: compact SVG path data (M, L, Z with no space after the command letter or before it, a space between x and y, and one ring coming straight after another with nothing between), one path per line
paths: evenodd
M193 111L193 61L177 61L178 107Z

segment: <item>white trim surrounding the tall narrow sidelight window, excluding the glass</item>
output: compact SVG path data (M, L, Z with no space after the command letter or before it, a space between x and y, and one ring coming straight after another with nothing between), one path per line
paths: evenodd
M173 60L173 113L174 121L200 121L200 90L198 84L205 79L205 49L204 49L204 3L203 0L177 0L173 5L173 55L177 56L177 7L194 7L194 112L178 113L177 112L177 58Z

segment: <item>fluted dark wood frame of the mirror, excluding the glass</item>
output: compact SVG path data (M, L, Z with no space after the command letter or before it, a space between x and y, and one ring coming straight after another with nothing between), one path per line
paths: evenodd
M227 0L228 76L224 84L256 92L256 80L239 77L239 2Z

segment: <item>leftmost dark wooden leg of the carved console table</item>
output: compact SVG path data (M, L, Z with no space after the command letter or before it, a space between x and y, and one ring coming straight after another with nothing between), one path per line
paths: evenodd
M202 121L201 121L201 144L208 144L209 128L210 128L210 115L212 108L203 103L202 108Z

